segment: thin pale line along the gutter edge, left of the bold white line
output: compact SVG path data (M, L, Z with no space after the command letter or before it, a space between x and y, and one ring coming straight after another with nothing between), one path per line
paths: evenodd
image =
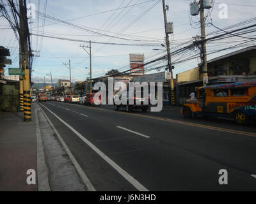
M44 106L44 105L43 105ZM45 106L44 106L45 107ZM41 108L41 107L40 107ZM46 107L45 107L46 108ZM46 108L47 110L49 110L48 108ZM56 135L58 136L61 144L63 145L64 149L66 150L68 156L70 157L72 163L74 164L77 172L79 173L81 179L83 180L84 184L86 185L88 191L96 191L96 189L92 186L92 183L90 182L90 180L88 179L88 177L86 176L86 174L84 173L83 169L81 168L81 166L79 165L79 163L76 161L76 158L73 156L72 152L70 151L70 149L68 148L67 144L64 142L64 140L61 138L60 133L58 132L58 130L54 127L54 125L52 124L51 120L49 119L49 117L45 114L44 110L41 108L42 112L44 113L46 119L48 120L49 124L51 124L52 129L54 130L54 132L56 133ZM51 112L51 110L49 110L49 112ZM53 113L54 114L54 113Z

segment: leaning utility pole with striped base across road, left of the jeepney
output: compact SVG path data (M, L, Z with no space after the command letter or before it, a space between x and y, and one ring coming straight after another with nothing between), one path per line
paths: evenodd
M164 12L164 29L165 29L165 40L166 40L166 49L167 49L167 59L168 59L168 69L172 75L170 80L171 86L171 105L175 105L175 92L174 92L174 84L173 84L173 72L172 72L172 59L171 59L171 52L170 52L170 41L169 41L169 34L167 32L167 19L166 19L166 8L165 2L163 1L163 12Z

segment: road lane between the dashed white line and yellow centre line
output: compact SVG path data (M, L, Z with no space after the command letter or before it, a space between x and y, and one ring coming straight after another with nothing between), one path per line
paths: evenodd
M72 108L77 108L77 112L85 111L84 107L80 106L73 106ZM109 112L101 112L95 107L86 109L86 113L92 115L93 119L100 119L101 121L108 120L109 122ZM140 119L137 114L131 115L125 112L112 113L115 114L115 117L111 118L112 120L115 119L112 124L118 124L118 126L123 126L124 128L129 128L145 135L157 136L159 140L170 142L173 145L177 145L177 147L204 155L214 161L229 164L229 166L233 168L241 169L246 172L256 172L256 164L253 162L256 161L256 138L252 136L241 136L239 134L218 131L216 129L209 130L200 127L186 126L186 124L176 124L172 126L172 122L160 121L156 123L153 122L154 120L152 121L152 119L147 119L147 117ZM161 131L159 131L159 129ZM170 137L170 131L172 137ZM232 129L230 129L230 131L232 131ZM104 139L105 135L102 135L102 139L100 140Z

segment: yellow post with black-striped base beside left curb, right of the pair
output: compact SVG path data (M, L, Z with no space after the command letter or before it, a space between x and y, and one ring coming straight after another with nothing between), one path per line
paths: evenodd
M31 121L31 97L29 84L29 68L24 60L24 78L23 78L23 99L24 99L24 122Z

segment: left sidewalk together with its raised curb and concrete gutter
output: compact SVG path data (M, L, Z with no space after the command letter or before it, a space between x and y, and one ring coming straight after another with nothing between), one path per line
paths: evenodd
M19 112L0 113L0 191L86 191L71 153L36 103L31 119L23 122ZM27 182L31 170L34 184Z

